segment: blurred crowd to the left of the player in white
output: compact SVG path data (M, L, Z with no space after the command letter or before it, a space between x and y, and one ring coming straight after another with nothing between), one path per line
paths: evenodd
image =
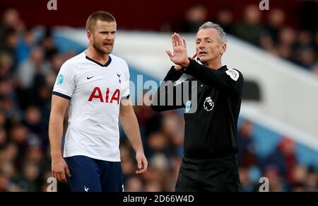
M46 191L51 176L47 127L52 88L73 53L52 33L37 38L14 9L0 25L0 191Z

